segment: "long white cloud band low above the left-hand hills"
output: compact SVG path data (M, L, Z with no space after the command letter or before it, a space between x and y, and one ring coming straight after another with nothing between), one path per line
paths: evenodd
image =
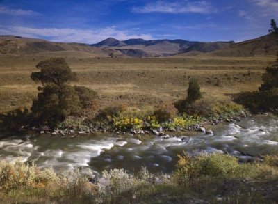
M130 31L121 31L115 26L104 29L58 29L58 28L28 28L22 26L6 26L0 27L2 35L15 35L28 38L44 38L56 42L84 42L95 43L106 38L112 37L117 40L127 40L129 38L143 38L151 40L152 36L149 34L133 34Z

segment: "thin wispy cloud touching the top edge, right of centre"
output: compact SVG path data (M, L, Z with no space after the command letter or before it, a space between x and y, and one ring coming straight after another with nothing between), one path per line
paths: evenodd
M147 3L143 7L134 7L135 13L215 13L216 9L208 1L156 1Z

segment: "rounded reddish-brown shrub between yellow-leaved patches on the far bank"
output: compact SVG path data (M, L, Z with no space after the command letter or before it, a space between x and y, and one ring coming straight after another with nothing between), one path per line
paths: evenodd
M159 121L166 121L174 116L176 116L178 113L178 110L174 107L174 104L170 102L165 102L163 104L160 104L156 111L154 111L154 115Z

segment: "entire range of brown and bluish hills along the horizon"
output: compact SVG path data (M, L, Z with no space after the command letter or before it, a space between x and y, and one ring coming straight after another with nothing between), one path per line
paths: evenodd
M0 36L0 55L44 54L49 56L76 57L122 56L254 56L275 55L278 51L278 36L268 34L243 42L196 42L188 40L117 40L107 38L97 44L50 42L47 40Z

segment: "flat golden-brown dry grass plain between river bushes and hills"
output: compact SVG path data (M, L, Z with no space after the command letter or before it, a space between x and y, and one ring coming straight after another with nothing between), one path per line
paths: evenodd
M30 107L38 84L30 79L35 65L49 56L0 56L0 111ZM199 80L204 97L229 99L240 91L254 91L263 68L273 57L168 57L89 58L66 57L79 82L97 91L100 103L124 102L134 107L156 105L186 97L190 77Z

